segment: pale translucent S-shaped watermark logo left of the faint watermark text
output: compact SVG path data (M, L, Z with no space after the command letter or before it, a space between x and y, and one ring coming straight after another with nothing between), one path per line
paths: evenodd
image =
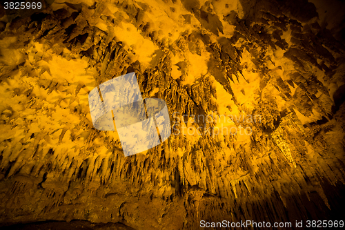
M146 151L171 133L168 107L163 99L141 97L135 73L128 73L93 88L88 95L94 128L115 131L125 156Z

